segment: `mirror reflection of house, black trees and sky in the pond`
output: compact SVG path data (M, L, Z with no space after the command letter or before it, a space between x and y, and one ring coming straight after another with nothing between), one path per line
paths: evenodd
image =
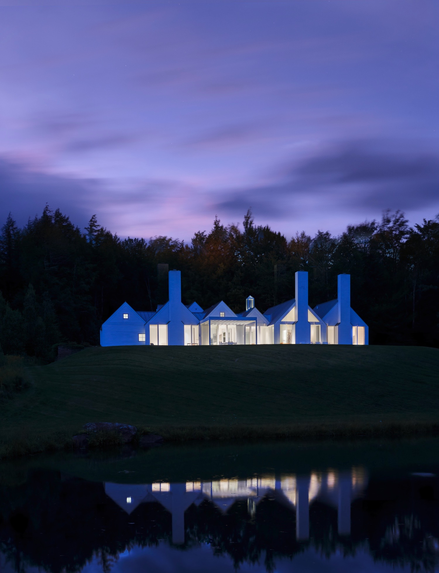
M0 488L0 570L430 572L438 485L361 466L149 484L33 470Z

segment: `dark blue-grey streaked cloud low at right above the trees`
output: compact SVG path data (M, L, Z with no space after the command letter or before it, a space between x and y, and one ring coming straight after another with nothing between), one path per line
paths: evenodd
M341 209L439 210L439 154L400 143L343 142L309 158L283 164L272 182L222 193L220 213L236 217L252 207L260 217L283 219L286 210L309 215Z

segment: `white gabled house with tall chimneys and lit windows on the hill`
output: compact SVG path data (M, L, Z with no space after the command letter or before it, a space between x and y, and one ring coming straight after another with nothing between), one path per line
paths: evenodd
M350 307L350 275L339 274L337 299L308 304L308 273L295 273L295 298L262 313L252 296L235 313L220 301L207 310L181 302L179 270L168 273L169 300L155 312L128 303L101 327L101 346L223 346L235 344L369 343L366 323Z

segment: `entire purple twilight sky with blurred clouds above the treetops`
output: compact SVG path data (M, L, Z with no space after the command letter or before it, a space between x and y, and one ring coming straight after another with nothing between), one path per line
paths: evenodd
M437 0L0 0L0 223L420 222L438 120Z

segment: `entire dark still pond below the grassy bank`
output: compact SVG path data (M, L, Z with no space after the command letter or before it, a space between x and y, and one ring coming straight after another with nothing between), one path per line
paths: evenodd
M0 571L435 571L439 439L163 445L0 464Z

